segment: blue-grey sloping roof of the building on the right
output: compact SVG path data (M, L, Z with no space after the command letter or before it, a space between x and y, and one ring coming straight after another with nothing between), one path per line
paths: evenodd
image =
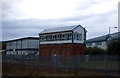
M111 38L112 40L120 39L120 32L116 32L116 33L113 33L113 34L110 34L110 35L108 34L108 35L88 39L86 42L90 43L90 42L106 41L106 39L108 37Z

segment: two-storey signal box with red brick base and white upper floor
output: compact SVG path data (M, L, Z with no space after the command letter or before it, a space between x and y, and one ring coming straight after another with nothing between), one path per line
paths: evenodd
M43 30L39 33L40 56L83 55L86 32L81 25Z

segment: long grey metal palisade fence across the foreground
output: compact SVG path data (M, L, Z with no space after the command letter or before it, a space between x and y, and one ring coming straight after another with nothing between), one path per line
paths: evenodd
M52 67L57 69L76 69L101 71L106 75L120 75L120 57L118 55L85 55L85 56L25 56L3 55L3 64L21 66Z

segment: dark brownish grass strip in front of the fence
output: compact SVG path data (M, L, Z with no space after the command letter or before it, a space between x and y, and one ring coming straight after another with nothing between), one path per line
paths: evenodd
M37 68L28 66L3 65L3 76L104 76L100 72L86 70L68 70L53 68Z

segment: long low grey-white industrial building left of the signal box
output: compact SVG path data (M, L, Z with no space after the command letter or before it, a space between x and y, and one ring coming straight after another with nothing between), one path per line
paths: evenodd
M6 54L30 55L37 54L39 46L38 37L25 37L6 41Z

